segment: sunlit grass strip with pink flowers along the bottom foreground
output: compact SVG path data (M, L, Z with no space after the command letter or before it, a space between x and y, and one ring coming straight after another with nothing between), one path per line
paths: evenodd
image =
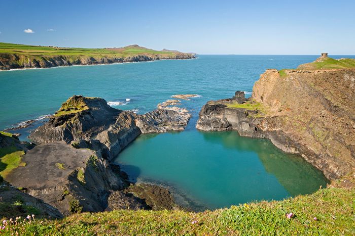
M201 213L120 210L82 213L62 220L9 225L20 235L127 234L355 234L355 190L330 187L284 201L232 206ZM287 218L287 213L294 213ZM316 217L316 218L314 218Z

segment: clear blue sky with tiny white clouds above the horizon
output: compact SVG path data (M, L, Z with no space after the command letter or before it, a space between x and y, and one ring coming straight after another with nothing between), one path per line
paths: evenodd
M0 0L0 42L198 54L355 55L355 1Z

